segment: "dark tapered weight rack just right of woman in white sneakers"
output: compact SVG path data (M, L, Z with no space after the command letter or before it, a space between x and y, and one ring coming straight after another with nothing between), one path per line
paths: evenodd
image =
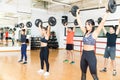
M59 47L56 34L54 31L52 31L50 34L50 38L48 40L48 47L52 49L57 49Z

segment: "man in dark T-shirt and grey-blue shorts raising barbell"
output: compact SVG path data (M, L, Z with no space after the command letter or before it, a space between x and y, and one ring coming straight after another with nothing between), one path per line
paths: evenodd
M115 56L116 56L116 39L117 39L117 35L119 34L119 31L120 31L120 20L119 20L119 25L117 29L115 29L114 26L111 26L109 29L109 32L107 32L106 29L103 27L103 32L105 33L107 37L107 45L106 45L105 52L104 52L104 58L105 58L104 68L100 70L100 72L107 71L108 58L110 57L112 68L113 68L113 76L116 76L117 74Z

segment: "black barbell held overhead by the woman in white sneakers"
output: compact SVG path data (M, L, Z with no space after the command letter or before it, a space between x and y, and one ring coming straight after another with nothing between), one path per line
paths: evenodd
M50 26L55 26L57 21L56 21L56 18L52 16L48 19L48 21L45 21L45 22L42 22L41 19L36 19L35 20L35 25L37 27L39 27L39 23L41 23L41 26L42 26L43 23L48 23Z

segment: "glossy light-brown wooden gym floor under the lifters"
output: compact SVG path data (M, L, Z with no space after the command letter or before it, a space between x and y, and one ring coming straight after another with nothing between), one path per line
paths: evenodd
M40 69L39 52L39 50L28 51L28 64L25 65L17 62L20 58L20 51L0 52L0 80L80 80L80 52L74 51L75 64L69 64L63 63L66 53L64 49L50 49L50 75L48 77L37 72ZM102 55L96 56L99 80L120 80L120 58L116 58L117 75L113 76L110 60L108 71L101 73L99 70L103 67L104 58ZM93 80L89 69L87 80Z

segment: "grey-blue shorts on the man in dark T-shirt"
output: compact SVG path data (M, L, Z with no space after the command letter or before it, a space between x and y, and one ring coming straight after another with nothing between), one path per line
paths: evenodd
M104 53L104 58L111 58L111 60L115 60L116 56L116 47L106 47L105 48L105 53Z

